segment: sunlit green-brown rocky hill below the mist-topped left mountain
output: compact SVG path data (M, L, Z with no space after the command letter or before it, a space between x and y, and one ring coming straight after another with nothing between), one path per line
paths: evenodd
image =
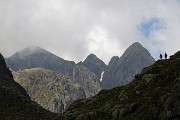
M62 114L73 101L86 98L77 82L51 70L31 68L14 72L13 75L33 101L58 114Z

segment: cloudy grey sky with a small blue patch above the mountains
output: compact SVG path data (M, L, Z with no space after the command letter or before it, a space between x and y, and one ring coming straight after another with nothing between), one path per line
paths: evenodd
M153 57L180 50L180 0L0 0L0 52L39 46L79 62L108 63L133 42Z

